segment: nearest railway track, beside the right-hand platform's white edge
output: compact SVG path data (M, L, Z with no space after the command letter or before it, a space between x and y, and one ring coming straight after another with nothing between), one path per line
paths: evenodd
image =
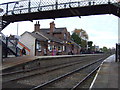
M96 65L96 63L102 62L102 61L103 61L103 59L99 59L99 60L97 60L95 62L84 65L83 67L80 67L80 68L75 69L75 70L73 70L71 72L68 72L68 73L66 73L64 75L61 75L61 76L59 76L57 78L54 78L54 79L52 79L52 80L50 80L50 81L48 81L46 83L40 84L40 85L30 89L30 90L39 90L40 88L60 88L61 86L63 88L71 88L72 90L76 89L77 87L79 87L88 77L90 77L100 67L101 63L99 63L99 65ZM76 78L76 77L78 77L78 73L79 74L82 73L84 69L86 69L86 68L88 69L93 64L95 64L96 67L94 67L92 70L90 70L87 74L82 75L82 77L80 78L81 80L78 81L78 78ZM70 79L72 77L74 78L73 80ZM71 85L73 84L73 82L76 82L76 81L74 81L75 78L76 78L76 80L78 82L75 85L73 85L73 87L72 87ZM70 85L69 82L72 82L71 85Z

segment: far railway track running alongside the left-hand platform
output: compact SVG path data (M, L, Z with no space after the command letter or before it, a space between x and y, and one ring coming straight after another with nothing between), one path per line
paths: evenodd
M96 57L94 57L94 58L96 58ZM81 57L80 60L70 61L70 62L67 62L67 63L57 64L57 65L53 65L53 66L49 66L49 67L43 67L43 68L40 67L40 68L29 69L29 70L22 70L22 71L10 72L10 73L3 73L2 74L3 83L8 82L8 81L21 79L21 78L25 78L25 77L30 77L32 75L34 76L34 75L38 75L38 74L44 74L44 73L54 71L56 69L68 67L68 66L73 66L75 64L85 62L88 59L89 59L89 57Z

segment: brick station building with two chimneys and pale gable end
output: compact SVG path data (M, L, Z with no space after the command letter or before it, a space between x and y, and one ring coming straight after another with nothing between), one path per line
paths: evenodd
M24 32L19 40L30 51L27 55L67 55L80 54L81 47L70 39L66 27L56 28L55 23L50 23L50 28L40 28L39 22L34 25L33 32Z

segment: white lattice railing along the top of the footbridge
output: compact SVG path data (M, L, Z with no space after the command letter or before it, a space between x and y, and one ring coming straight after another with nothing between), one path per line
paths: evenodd
M118 3L119 1L120 0L20 0L0 4L0 8L3 9L0 16Z

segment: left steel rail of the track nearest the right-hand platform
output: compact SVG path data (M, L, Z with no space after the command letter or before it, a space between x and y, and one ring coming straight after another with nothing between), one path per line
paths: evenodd
M40 84L40 85L38 85L38 86L36 86L36 87L34 87L34 88L31 88L30 90L39 90L40 88L42 88L42 87L44 87L44 86L46 86L46 85L49 85L49 84L51 84L51 83L53 83L53 82L55 82L55 81L57 81L57 80L60 80L60 79L62 79L62 78L64 78L64 77L66 77L66 76L69 76L69 75L71 75L71 74L73 74L73 73L75 73L75 72L78 72L78 71L80 71L80 70L83 70L83 69L85 69L85 68L87 68L87 67L89 67L89 66L91 66L91 65L93 65L93 64L95 64L95 63L97 63L97 62L99 62L99 61L102 61L102 60L103 60L103 58L98 59L98 60L95 61L95 62L92 62L92 63L90 63L90 64L84 65L83 67L80 67L80 68L78 68L78 69L75 69L75 70L73 70L73 71L71 71L71 72L68 72L68 73L66 73L66 74L64 74L64 75L61 75L61 76L59 76L59 77L57 77L57 78L54 78L54 79L52 79L52 80L50 80L50 81L48 81L48 82L45 82L45 83Z

